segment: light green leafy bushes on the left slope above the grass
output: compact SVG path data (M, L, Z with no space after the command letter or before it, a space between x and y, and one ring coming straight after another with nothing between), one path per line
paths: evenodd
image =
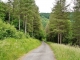
M5 22L3 23L2 20L0 20L0 39L7 37L22 38L23 36L25 37L25 35L17 31L14 26Z

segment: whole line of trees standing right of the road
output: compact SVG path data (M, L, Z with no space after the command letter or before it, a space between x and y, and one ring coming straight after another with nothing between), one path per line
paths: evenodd
M56 43L80 45L80 0L73 1L72 12L66 0L57 0L46 26L47 40Z

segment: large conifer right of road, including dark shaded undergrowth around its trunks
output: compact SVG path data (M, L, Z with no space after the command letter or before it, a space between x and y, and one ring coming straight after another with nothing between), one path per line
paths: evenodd
M68 13L66 12L65 0L57 1L57 4L52 9L48 23L47 38L49 41L64 42L65 37L69 39L71 24L68 20ZM47 30L47 29L46 29Z

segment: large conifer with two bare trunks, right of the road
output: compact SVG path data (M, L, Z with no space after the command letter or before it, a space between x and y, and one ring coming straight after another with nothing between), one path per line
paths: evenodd
M58 43L60 44L62 43L63 34L66 32L67 19L65 0L58 0L50 15L49 36L54 38L54 35L57 34Z

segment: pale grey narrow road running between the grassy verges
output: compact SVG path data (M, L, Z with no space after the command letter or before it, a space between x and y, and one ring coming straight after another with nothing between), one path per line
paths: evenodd
M18 60L56 60L50 47L42 42L42 45Z

